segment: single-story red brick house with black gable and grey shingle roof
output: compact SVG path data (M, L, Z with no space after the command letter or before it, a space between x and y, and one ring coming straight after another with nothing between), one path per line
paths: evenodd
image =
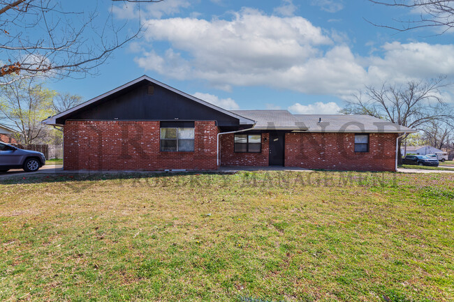
M224 110L142 76L45 119L64 127L64 169L219 166L395 171L416 130L363 115Z

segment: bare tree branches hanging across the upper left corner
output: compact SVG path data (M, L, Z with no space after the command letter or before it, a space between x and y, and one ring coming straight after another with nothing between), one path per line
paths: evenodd
M140 33L140 20L130 31L127 22L116 24L112 13L102 17L97 6L86 13L65 2L0 0L0 85L36 75L96 73L114 50ZM6 77L11 74L19 76Z

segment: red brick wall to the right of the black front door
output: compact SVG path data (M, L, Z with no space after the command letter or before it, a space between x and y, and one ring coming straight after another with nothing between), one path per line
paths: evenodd
M286 133L286 167L395 171L397 134L370 133L369 152L355 152L354 133Z

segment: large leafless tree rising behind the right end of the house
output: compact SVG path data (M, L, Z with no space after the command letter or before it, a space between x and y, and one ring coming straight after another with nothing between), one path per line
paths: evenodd
M418 130L424 130L434 121L452 124L453 108L444 103L439 91L445 86L444 77L411 80L402 86L383 84L379 89L366 86L365 91L359 91L354 100L347 103L342 113L368 114ZM399 153L401 143L402 139Z

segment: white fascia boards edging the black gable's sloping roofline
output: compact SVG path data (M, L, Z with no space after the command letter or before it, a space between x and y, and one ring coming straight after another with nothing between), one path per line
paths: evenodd
M216 105L213 105L211 103L207 103L207 102L205 102L205 100L200 100L199 98L196 98L195 96L191 96L188 93L184 93L183 91L180 91L180 90L175 89L175 88L173 88L171 86L168 86L168 85L166 85L164 83L156 81L156 80L152 79L151 77L148 77L147 75L142 75L142 77L139 77L136 80L133 80L133 81L131 81L129 83L126 83L126 84L124 84L122 86L119 86L119 87L117 87L115 89L112 89L111 91L103 93L103 94L101 94L101 96L97 96L96 98L92 98L91 100L87 100L87 102L82 103L82 104L80 104L78 106L75 106L75 107L73 107L73 108L71 108L69 110L66 110L64 112L61 112L61 113L56 114L54 116L51 116L51 117L43 120L41 123L44 123L46 125L56 125L55 121L57 119L59 119L61 116L65 116L66 114L70 114L71 112L75 112L76 110L79 110L79 109L81 109L81 108L83 108L83 107L85 107L87 105L90 105L91 103L95 103L97 100L101 100L101 98L105 98L107 96L110 96L111 94L116 93L118 91L121 91L122 89L125 89L125 88L127 88L127 87L129 87L129 86L131 86L133 84L136 84L136 83L142 81L142 80L147 80L147 81L152 82L152 83L154 83L156 85L159 85L159 86L161 86L163 88L166 88L166 89L168 89L170 91L178 93L178 94L180 94L180 96L184 96L184 97L189 98L190 100L193 100L193 101L195 101L197 103L200 103L200 104L205 105L207 107L210 107L210 108L212 108L214 110L217 110L219 112L227 114L228 116L232 116L235 119L238 119L240 121L240 125L248 125L248 124L254 124L255 123L255 121L253 121L251 119L247 119L244 116L240 116L238 114L235 114L233 112L225 110L225 109L223 109L221 107L217 107Z

